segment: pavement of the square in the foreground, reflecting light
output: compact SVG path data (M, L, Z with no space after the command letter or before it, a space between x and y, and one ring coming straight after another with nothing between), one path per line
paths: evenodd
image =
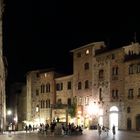
M12 132L0 135L0 140L140 140L140 132L117 131L113 136L111 132L102 132L98 135L97 130L84 130L83 135L77 136L50 136L38 133Z

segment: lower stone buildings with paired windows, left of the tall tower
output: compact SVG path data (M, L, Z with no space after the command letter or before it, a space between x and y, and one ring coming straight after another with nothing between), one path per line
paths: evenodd
M27 121L38 125L68 119L67 104L72 100L72 76L62 76L53 69L27 73Z

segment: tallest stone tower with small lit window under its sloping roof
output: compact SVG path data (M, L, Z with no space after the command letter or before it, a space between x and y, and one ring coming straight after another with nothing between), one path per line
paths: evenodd
M91 110L91 106L97 100L92 85L93 54L101 46L104 46L103 42L96 42L71 51L73 53L73 95L77 98L77 123L85 127L88 127L89 123L97 124L97 116L93 116L94 110Z

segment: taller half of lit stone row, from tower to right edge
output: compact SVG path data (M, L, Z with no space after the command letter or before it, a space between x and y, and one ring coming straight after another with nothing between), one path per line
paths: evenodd
M84 125L99 123L111 128L115 124L118 129L140 130L140 45L111 50L96 42L72 52L73 94L82 105ZM89 68L85 69L87 62ZM87 89L85 80L89 80Z

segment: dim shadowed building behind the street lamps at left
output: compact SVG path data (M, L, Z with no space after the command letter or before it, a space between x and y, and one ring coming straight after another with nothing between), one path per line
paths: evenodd
M7 115L7 127L12 123L13 128L21 130L23 120L26 120L26 86L22 82L12 83L9 87L9 96L7 96L7 110L11 111ZM14 127L15 126L15 127Z

